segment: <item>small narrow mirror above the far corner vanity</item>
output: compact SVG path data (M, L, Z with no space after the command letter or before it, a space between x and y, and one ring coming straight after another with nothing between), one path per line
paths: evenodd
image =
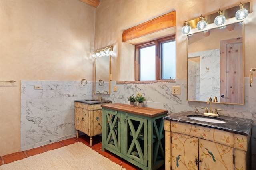
M95 58L94 93L110 94L111 55Z

